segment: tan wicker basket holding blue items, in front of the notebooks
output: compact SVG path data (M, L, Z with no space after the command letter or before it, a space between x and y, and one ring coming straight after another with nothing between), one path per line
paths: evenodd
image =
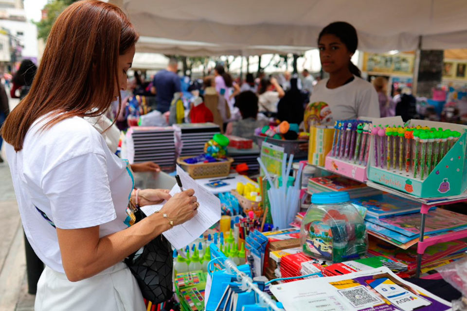
M230 166L234 162L231 157L223 162L188 164L183 161L190 157L193 156L181 156L177 158L177 163L194 179L227 176L230 173Z

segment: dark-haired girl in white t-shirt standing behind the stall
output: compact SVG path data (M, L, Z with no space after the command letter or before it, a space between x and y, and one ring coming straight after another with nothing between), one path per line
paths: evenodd
M378 95L369 82L361 79L360 70L350 60L357 46L357 32L346 22L331 23L321 31L318 48L329 79L320 81L313 89L305 110L306 129L313 123L379 118Z

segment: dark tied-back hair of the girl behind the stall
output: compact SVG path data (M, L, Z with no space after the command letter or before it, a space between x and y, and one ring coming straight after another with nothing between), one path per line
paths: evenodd
M344 21L336 21L334 23L330 23L326 27L323 28L320 35L318 36L318 43L321 40L323 35L335 35L337 36L343 44L347 47L347 50L351 53L355 53L357 51L357 46L359 45L359 38L357 36L357 31L355 30L354 26L346 23ZM349 70L352 74L356 75L357 77L361 78L361 71L360 69L349 60Z

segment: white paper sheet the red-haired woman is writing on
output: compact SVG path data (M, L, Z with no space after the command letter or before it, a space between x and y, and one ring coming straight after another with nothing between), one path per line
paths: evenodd
M162 234L175 249L183 249L220 220L220 200L214 194L199 185L178 165L177 174L180 176L183 190L195 190L195 196L199 203L198 214L189 221L181 225L176 225ZM170 195L173 196L178 192L180 192L180 188L176 184L172 190L170 190ZM166 201L161 204L144 206L141 207L141 210L144 214L151 215L160 210L165 202Z

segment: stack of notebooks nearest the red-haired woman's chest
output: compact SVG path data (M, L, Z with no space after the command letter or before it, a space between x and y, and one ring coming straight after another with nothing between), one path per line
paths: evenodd
M171 126L134 126L126 132L130 163L152 161L164 171L175 169L174 129Z

